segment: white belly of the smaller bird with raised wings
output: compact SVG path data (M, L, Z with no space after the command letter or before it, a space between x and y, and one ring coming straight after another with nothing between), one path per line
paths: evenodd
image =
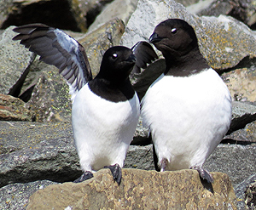
M114 103L93 94L86 84L73 102L75 145L84 171L119 163L123 167L140 114L137 94Z

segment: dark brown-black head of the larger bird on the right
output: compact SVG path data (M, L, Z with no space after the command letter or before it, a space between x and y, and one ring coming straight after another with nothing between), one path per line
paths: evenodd
M169 19L155 27L149 38L162 54L172 54L174 57L188 54L193 48L198 48L195 31L186 21Z

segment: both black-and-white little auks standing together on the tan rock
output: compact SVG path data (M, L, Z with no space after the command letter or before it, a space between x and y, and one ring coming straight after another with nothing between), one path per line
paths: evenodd
M84 171L74 182L108 167L120 184L140 114L152 135L154 162L160 171L192 168L213 182L202 165L230 127L230 92L207 65L186 21L165 20L149 38L165 57L166 70L148 88L141 111L129 75L157 58L149 43L108 48L92 79L84 48L63 31L42 24L14 31L20 33L14 40L55 65L70 87L73 135Z

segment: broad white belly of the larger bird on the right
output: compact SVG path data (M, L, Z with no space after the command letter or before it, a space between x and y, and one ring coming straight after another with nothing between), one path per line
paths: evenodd
M166 170L201 167L228 131L230 92L212 69L191 77L161 75L143 98L143 122ZM160 164L160 162L159 162Z

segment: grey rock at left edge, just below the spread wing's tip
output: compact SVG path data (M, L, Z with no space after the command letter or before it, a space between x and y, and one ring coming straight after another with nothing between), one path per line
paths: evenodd
M18 42L12 41L16 35L12 31L13 28L9 27L0 35L0 93L17 97L20 94L19 88L29 71L28 66L35 56Z

